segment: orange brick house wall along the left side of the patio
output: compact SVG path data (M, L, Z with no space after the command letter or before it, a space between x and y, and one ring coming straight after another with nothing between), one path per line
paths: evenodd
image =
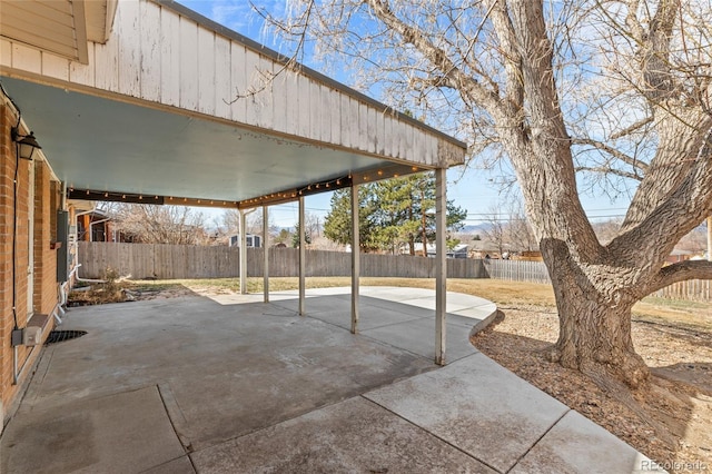
M36 314L50 314L58 300L56 282L56 256L50 248L53 235L52 213L58 199L57 186L50 180L47 165L36 159L20 159L17 166L18 199L14 206L16 147L10 138L10 129L17 124L14 109L6 103L0 105L0 406L4 417L12 413L18 402L20 388L27 383L31 367L40 354L39 347L18 347L18 367L27 367L19 385L13 384L13 348L11 334L17 324L27 325L28 317ZM33 174L31 172L33 169ZM33 182L30 179L34 175ZM30 203L33 189L34 201ZM17 209L17 234L13 231L13 213ZM30 236L28 217L33 210L33 235ZM30 240L32 238L32 240ZM12 265L13 240L17 239L14 271ZM30 241L32 247L30 248ZM33 266L29 271L30 251ZM13 315L13 275L14 307ZM28 297L29 279L32 278L32 295ZM31 298L32 308L28 308ZM51 327L47 328L49 332ZM0 409L2 412L2 409Z

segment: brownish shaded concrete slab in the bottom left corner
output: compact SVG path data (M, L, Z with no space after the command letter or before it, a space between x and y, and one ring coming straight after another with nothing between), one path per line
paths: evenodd
M2 435L3 473L120 473L185 454L157 387L37 407Z

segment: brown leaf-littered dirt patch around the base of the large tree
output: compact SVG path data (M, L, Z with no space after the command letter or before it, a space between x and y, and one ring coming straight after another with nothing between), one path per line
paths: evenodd
M674 320L634 319L635 348L653 376L634 394L639 409L631 409L583 374L545 359L543 350L558 334L553 308L501 310L473 337L479 350L669 471L712 470L712 334Z

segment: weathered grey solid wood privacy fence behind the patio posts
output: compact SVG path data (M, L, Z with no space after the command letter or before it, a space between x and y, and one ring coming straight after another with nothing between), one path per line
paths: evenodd
M101 278L108 267L132 278L229 278L239 276L237 247L80 241L79 276ZM295 277L299 250L269 248L269 276ZM247 249L247 275L263 276L264 248ZM343 251L307 250L306 276L349 276L352 256ZM486 278L482 260L447 259L451 278ZM434 278L435 259L408 255L360 255L360 275Z

